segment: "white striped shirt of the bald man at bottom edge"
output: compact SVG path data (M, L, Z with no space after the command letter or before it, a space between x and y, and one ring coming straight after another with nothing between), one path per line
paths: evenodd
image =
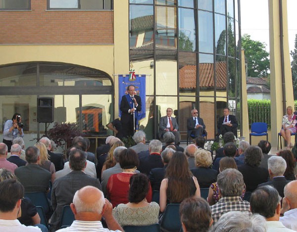
M56 232L121 232L119 230L110 231L103 228L100 221L73 221L70 227L60 229Z

